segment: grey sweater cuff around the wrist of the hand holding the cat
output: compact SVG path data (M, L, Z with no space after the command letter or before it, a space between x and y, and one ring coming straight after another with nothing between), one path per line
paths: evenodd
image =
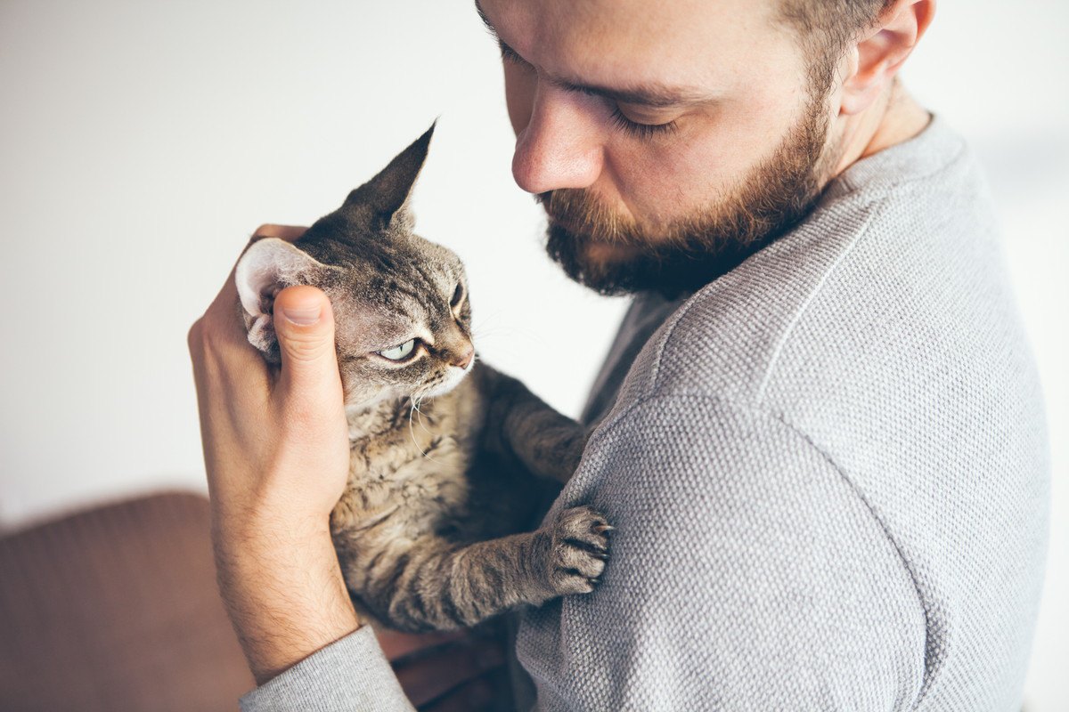
M242 712L415 710L371 626L361 626L239 700Z

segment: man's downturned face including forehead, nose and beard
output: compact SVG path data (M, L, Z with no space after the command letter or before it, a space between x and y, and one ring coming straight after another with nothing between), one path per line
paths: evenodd
M839 158L834 114L776 1L479 1L513 175L573 279L695 289L809 209Z

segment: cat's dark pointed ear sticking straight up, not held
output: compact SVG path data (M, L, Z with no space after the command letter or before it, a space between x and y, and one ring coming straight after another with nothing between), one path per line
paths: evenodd
M412 230L415 221L408 209L408 196L427 160L436 124L431 124L423 136L398 154L378 175L351 192L341 211L354 222L374 227L397 225Z

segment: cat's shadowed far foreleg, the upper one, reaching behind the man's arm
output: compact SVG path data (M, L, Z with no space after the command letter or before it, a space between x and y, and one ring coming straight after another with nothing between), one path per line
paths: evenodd
M571 479L589 432L530 392L521 381L480 364L487 399L483 443L511 453L536 475Z

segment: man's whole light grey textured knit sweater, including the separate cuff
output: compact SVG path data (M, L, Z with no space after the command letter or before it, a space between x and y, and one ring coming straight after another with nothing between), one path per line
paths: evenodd
M518 615L527 706L1020 709L1050 472L995 222L935 117L697 294L634 299L547 515L602 510L611 557ZM242 708L412 709L368 628Z

